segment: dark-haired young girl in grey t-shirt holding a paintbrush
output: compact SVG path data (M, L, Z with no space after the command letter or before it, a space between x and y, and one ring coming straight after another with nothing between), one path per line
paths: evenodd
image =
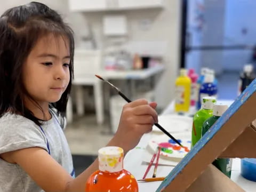
M74 38L60 15L32 2L0 18L0 191L84 191L98 160L78 177L63 129ZM123 107L107 146L127 153L157 122L156 103Z

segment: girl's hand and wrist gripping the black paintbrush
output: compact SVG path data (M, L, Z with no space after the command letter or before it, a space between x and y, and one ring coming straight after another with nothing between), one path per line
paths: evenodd
M118 130L109 145L121 147L125 153L137 146L142 135L158 122L156 106L156 102L148 103L145 99L124 105Z

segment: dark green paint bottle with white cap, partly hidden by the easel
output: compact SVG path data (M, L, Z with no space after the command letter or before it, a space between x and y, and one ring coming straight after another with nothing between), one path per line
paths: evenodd
M213 106L213 116L207 119L203 124L202 136L211 128L211 126L222 116L227 110L228 106L221 103L215 103ZM232 159L229 158L217 158L212 163L222 173L226 174L229 178L231 177L231 166Z

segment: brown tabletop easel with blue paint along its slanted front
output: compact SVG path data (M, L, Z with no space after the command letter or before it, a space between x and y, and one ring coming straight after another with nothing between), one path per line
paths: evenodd
M256 81L247 93L236 100L231 109L226 111L222 124L215 124L214 135L210 133L202 138L202 147L195 146L186 159L177 165L157 191L163 192L240 192L244 191L211 163L215 158L256 158ZM254 91L252 91L254 89ZM246 93L244 93L246 94ZM246 96L246 97L245 97ZM241 103L239 103L239 99ZM224 114L223 114L224 115ZM219 119L220 120L220 119ZM219 127L218 127L219 126ZM212 129L214 131L214 127ZM255 150L252 150L255 149ZM192 152L193 151L193 152ZM196 153L195 153L196 152ZM182 165L183 164L183 165ZM176 168L176 167L175 167ZM175 169L174 168L174 169ZM256 190L256 189L255 189Z

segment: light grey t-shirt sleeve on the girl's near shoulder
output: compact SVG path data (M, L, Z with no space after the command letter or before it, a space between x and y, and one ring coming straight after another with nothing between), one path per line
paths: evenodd
M0 154L29 147L41 147L47 151L46 143L40 127L29 119L1 118Z

